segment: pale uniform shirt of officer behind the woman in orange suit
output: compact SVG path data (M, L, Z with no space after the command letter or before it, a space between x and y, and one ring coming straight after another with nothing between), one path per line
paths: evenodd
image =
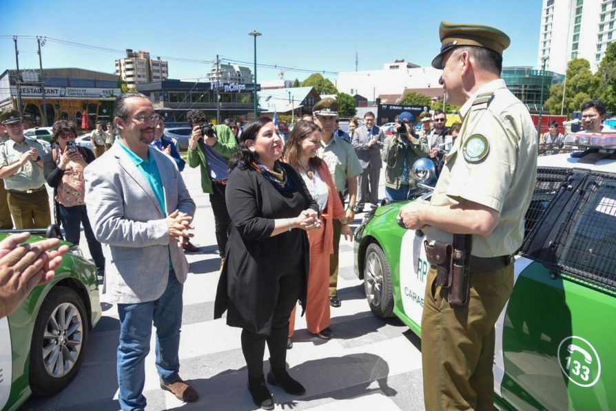
M339 192L345 190L348 177L356 177L363 171L351 143L340 139L336 133L333 134L329 144L321 140L318 156L327 164L331 177L333 177L333 183Z

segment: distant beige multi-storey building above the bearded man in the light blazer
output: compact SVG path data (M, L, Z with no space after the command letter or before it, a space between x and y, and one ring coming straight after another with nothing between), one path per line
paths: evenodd
M145 50L133 52L127 48L126 57L116 60L116 74L126 81L127 86L134 87L137 83L167 79L169 68L167 61L161 60L161 57L152 60L150 53Z

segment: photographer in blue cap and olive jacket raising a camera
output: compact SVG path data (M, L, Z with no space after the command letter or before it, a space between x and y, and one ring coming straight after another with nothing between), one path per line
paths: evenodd
M409 191L415 187L411 166L429 152L426 137L418 136L413 131L413 114L404 111L397 117L398 123L393 125L394 134L385 140L381 153L385 163L385 198L389 201L407 199Z

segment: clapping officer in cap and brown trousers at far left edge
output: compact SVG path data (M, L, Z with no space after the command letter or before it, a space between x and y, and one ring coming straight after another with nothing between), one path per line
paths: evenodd
M10 139L0 146L0 179L8 191L8 207L18 230L47 228L51 224L49 196L43 177L41 143L23 135L21 113L3 113L2 125Z

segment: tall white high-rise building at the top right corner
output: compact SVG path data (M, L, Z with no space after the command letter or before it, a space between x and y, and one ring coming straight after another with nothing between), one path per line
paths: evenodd
M568 61L586 59L597 70L616 40L616 0L543 0L537 68L564 74Z

